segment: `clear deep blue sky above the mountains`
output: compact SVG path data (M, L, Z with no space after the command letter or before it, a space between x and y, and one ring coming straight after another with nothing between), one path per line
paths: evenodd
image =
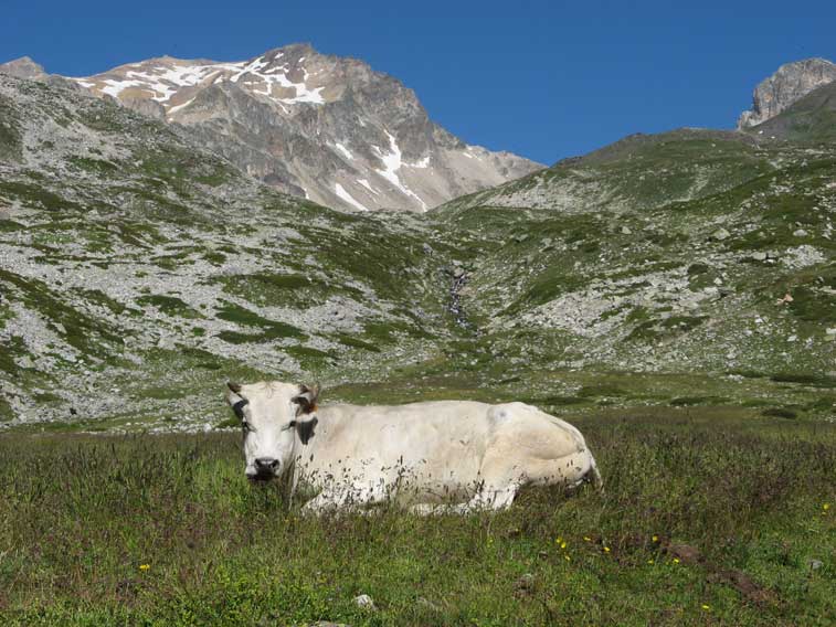
M836 2L0 0L0 61L87 75L150 56L354 56L472 144L541 162L631 132L730 128L782 63L836 61Z

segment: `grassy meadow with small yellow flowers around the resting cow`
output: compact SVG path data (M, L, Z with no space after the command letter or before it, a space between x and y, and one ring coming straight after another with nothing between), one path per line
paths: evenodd
M304 516L236 434L6 433L0 623L833 625L836 422L558 413L605 493L467 517Z

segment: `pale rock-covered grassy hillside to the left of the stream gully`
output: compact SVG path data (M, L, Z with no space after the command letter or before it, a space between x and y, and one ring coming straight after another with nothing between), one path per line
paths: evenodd
M0 422L194 428L227 376L420 359L452 325L444 249L409 214L281 194L182 127L0 75Z

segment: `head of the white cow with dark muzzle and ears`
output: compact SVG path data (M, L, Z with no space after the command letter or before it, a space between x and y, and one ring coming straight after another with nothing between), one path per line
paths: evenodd
M319 387L278 381L226 386L244 433L247 478L278 477L293 464L298 446L314 437Z

